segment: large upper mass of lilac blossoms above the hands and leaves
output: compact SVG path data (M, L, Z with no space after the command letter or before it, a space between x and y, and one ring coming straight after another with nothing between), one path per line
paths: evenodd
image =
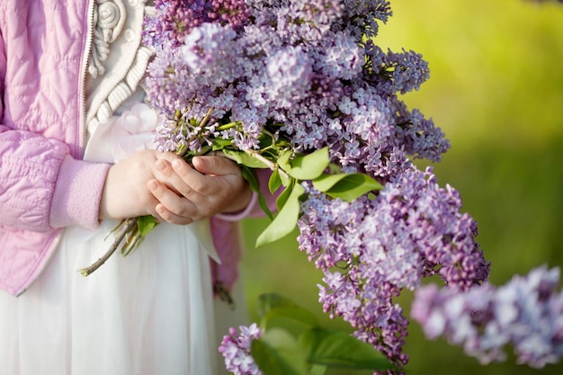
M271 127L297 152L328 146L344 171L380 177L407 168L409 156L438 161L449 147L398 97L428 78L422 57L365 41L391 15L387 1L157 3L147 92L168 116L201 119L212 107L211 122L243 124L223 134L243 150Z

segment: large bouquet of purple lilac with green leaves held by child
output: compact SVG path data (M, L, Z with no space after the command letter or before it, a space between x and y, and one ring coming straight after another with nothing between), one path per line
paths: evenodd
M279 212L257 244L299 225L299 248L325 273L326 312L393 363L373 370L400 373L407 319L393 299L436 273L467 289L487 279L488 263L458 193L411 161L439 161L449 143L398 96L424 83L426 62L374 42L389 2L155 3L144 42L156 50L147 100L167 119L157 148L232 158L255 192L255 169L269 168ZM124 229L136 240L154 225L139 223ZM254 328L250 336L262 339ZM246 352L223 351L237 353L236 374L252 362L240 353L255 355L243 342Z

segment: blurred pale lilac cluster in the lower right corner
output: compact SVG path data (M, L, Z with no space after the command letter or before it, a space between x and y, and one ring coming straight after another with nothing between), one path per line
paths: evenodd
M505 360L512 345L519 363L541 368L563 356L563 290L559 268L542 266L494 288L460 292L430 284L416 290L412 317L429 338L463 345L482 363Z

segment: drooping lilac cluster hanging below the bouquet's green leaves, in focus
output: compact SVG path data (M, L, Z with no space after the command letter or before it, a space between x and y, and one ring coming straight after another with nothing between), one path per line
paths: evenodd
M489 264L475 242L476 222L430 169L392 177L374 199L328 200L308 189L298 242L325 273L319 301L357 337L406 364L407 319L393 298L434 273L463 290L485 281Z

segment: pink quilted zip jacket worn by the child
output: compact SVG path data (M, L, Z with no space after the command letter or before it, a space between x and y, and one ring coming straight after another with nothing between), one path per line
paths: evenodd
M98 226L110 165L82 160L90 5L0 2L0 288L13 295L48 266L62 228ZM230 285L241 253L237 226L216 217L211 230L221 258L215 280Z

